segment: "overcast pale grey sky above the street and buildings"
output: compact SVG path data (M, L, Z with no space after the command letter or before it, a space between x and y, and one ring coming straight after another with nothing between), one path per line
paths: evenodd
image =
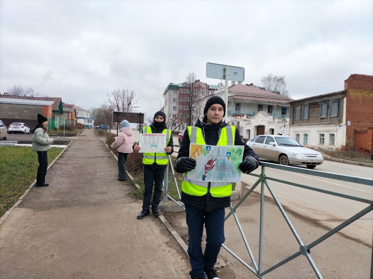
M286 76L293 99L343 90L373 74L373 2L0 0L2 92L20 84L89 109L129 89L149 116L191 71L219 83L206 62L244 67L258 86Z

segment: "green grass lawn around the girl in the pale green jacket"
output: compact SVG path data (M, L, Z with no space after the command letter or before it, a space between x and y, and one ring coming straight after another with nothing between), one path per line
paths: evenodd
M50 164L63 150L52 147L48 151ZM16 203L36 179L38 154L30 147L3 146L0 148L0 216Z

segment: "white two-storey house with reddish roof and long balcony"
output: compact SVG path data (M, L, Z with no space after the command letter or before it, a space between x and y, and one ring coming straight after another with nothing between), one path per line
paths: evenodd
M209 97L219 96L224 99L224 94L224 87L219 84L214 94L198 100L195 106L197 114L203 114ZM232 81L228 88L225 122L238 128L241 137L248 140L264 134L289 135L291 100L252 83L244 85Z

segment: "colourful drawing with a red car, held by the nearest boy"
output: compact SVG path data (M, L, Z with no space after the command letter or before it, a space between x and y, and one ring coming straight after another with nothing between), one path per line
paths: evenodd
M244 147L191 144L189 157L197 161L188 179L207 182L240 182Z

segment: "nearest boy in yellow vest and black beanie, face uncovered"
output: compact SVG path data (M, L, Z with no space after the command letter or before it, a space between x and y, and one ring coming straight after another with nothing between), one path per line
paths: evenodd
M239 131L224 121L225 102L222 98L213 96L206 102L202 116L194 126L189 126L184 132L175 170L185 173L182 183L181 201L185 204L186 224L188 225L188 254L192 270L192 279L217 279L214 270L224 237L224 208L231 204L232 184L230 182L206 182L188 180L187 172L196 166L196 161L189 158L191 143L206 145L243 145L243 161L239 169L250 173L259 165L259 158L245 144ZM203 224L206 227L206 248L202 253Z

